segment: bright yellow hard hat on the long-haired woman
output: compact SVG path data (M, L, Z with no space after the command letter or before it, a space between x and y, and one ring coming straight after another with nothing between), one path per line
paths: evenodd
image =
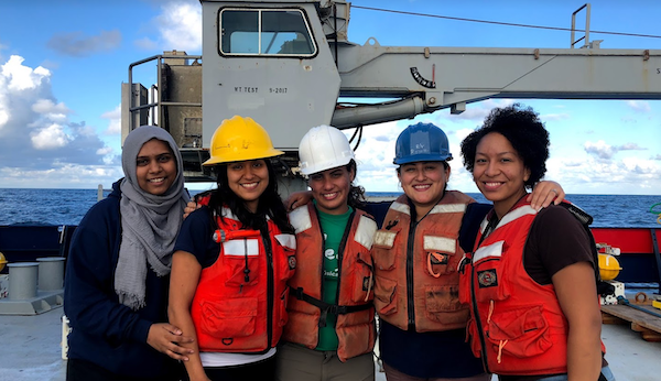
M212 137L212 157L202 165L267 159L283 154L275 150L263 127L251 118L225 119Z

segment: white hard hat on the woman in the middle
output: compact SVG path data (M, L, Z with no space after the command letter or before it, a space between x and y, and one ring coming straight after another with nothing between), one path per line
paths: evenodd
M313 127L299 145L301 173L311 175L348 164L354 150L347 137L330 126Z

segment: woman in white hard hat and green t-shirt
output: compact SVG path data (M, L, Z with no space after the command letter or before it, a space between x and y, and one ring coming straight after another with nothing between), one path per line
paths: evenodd
M329 126L301 140L301 172L313 200L290 213L296 230L296 273L277 379L373 380L373 218L358 207L356 161L345 134Z

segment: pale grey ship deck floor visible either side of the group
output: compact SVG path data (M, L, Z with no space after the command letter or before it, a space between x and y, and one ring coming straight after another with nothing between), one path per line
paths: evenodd
M34 316L0 316L0 381L64 381L62 308ZM604 325L606 359L618 381L658 381L661 342L644 341L627 325ZM384 381L377 372L377 380Z

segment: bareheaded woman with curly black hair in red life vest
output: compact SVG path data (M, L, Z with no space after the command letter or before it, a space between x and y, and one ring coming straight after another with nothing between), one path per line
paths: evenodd
M549 157L538 113L519 104L494 109L462 142L462 154L494 203L460 271L474 353L503 381L614 380L603 356L589 230L574 207L539 210L525 200Z

